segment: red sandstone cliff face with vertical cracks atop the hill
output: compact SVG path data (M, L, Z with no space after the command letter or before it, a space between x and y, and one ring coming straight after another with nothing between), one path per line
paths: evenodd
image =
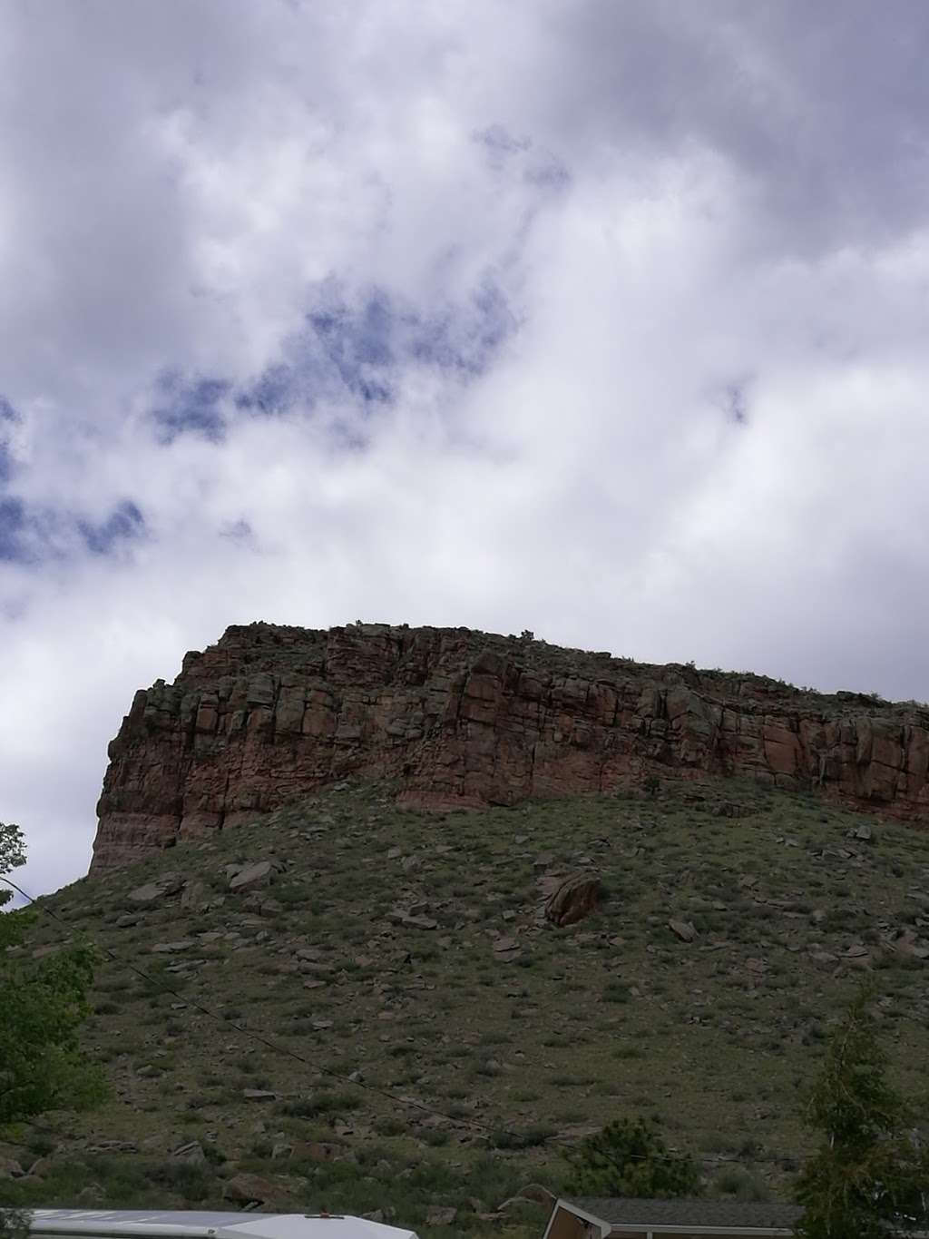
M929 711L466 628L256 623L135 695L92 871L349 774L422 808L746 773L929 820Z

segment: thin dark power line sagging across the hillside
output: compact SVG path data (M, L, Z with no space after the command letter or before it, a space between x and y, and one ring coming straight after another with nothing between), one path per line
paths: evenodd
M22 887L17 886L16 882L14 882L11 878L9 878L9 877L6 877L4 875L0 875L0 882L6 882L6 885L10 886L14 891L16 891L19 895L21 895L24 900L27 900L30 904L35 904L35 907L37 907L40 912L43 912L46 916L51 917L52 921L56 921L58 924L63 926L66 929L71 928L68 926L68 922L64 921L63 917L59 917L57 912L55 912L52 908L47 907L45 903L40 903L38 900L33 898L27 891L24 891ZM89 938L89 935L88 935L88 938ZM93 939L90 939L90 940L93 942ZM468 1127L472 1131L482 1132L483 1135L487 1135L491 1139L499 1139L500 1136L509 1136L509 1137L512 1137L515 1141L525 1141L525 1132L515 1131L515 1130L513 1130L510 1127L500 1127L500 1126L492 1127L492 1126L488 1126L484 1123L478 1123L478 1121L474 1121L474 1120L471 1120L471 1119L456 1118L456 1116L453 1116L451 1114L446 1114L443 1110L440 1110L436 1106L426 1105L422 1101L416 1101L415 1098L403 1097L399 1093L394 1093L390 1089L382 1088L378 1084L370 1084L370 1083L368 1083L364 1079L360 1079L360 1078L357 1078L357 1077L352 1077L352 1075L347 1075L344 1072L337 1072L332 1067L326 1067L322 1063L313 1063L311 1059L305 1058L302 1054L299 1054L296 1051L291 1049L289 1046L282 1046L282 1044L280 1044L276 1041L271 1041L270 1037L265 1036L264 1033L255 1032L254 1030L245 1027L245 1025L238 1023L232 1016L227 1016L227 1015L223 1015L222 1012L213 1011L211 1007L204 1006L202 1002L198 1002L196 999L192 999L190 995L182 994L180 990L173 989L164 979L151 976L149 973L145 971L145 969L139 968L136 964L133 964L128 959L123 959L120 955L118 955L109 947L104 947L100 943L93 943L93 944L97 947L97 949L103 955L105 955L108 959L110 959L114 964L120 964L123 968L128 969L130 973L134 973L136 976L141 978L149 985L156 986L156 987L164 990L165 992L173 995L173 997L178 999L181 1002L185 1002L188 1007L193 1007L196 1011L199 1011L201 1015L204 1015L208 1020L214 1021L216 1023L220 1025L222 1027L234 1028L235 1032L239 1032L243 1036L248 1037L249 1040L251 1040L251 1041L254 1041L254 1042L264 1046L266 1049L271 1049L275 1053L284 1054L286 1058L292 1058L294 1062L300 1063L302 1067L308 1067L311 1070L320 1072L322 1075L328 1075L332 1079L341 1080L343 1084L352 1084L355 1088L365 1089L368 1093L374 1093L374 1094L377 1094L377 1095L379 1095L382 1098L385 1098L388 1101L393 1101L393 1103L396 1103L399 1105L411 1106L415 1110L421 1110L424 1114L429 1114L429 1115L432 1115L434 1118L443 1119L446 1123L451 1123L451 1124L453 1124L453 1125L456 1125L458 1127ZM540 1141L540 1144L560 1145L562 1147L569 1147L569 1149L576 1147L576 1142L575 1141L564 1140L564 1139L560 1139L559 1136L546 1136L544 1140ZM660 1155L655 1154L654 1156L647 1156L644 1154L629 1154L627 1156L629 1156L630 1158L639 1160L639 1161L676 1161L678 1160L671 1154L660 1154ZM739 1160L739 1161L748 1161L749 1163L763 1162L763 1163L778 1165L778 1163L783 1162L785 1158L783 1158L783 1157L749 1157L749 1158L737 1158L737 1160ZM732 1160L727 1158L727 1157L701 1158L701 1161L712 1161L713 1163L718 1163L718 1165L731 1165L732 1163Z

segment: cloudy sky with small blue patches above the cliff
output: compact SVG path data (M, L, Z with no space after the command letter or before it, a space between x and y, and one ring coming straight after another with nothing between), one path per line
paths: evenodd
M0 818L230 623L929 699L923 0L6 0Z

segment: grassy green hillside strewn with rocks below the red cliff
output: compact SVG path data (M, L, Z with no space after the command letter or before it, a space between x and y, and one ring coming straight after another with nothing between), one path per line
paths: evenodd
M455 1207L457 1230L529 1237L543 1206L497 1207L557 1188L552 1137L629 1113L700 1155L710 1191L783 1192L863 970L897 1082L929 1101L927 833L739 779L446 814L396 793L342 783L42 901L63 924L30 949L119 955L85 1033L113 1094L22 1134L11 1155L48 1152L24 1198L218 1203L251 1172L269 1207L424 1235ZM540 898L576 871L606 898L556 928Z

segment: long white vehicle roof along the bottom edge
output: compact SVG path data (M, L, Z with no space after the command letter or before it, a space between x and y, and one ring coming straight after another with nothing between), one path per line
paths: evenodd
M30 1233L87 1239L416 1239L401 1227L337 1214L171 1209L33 1209Z

